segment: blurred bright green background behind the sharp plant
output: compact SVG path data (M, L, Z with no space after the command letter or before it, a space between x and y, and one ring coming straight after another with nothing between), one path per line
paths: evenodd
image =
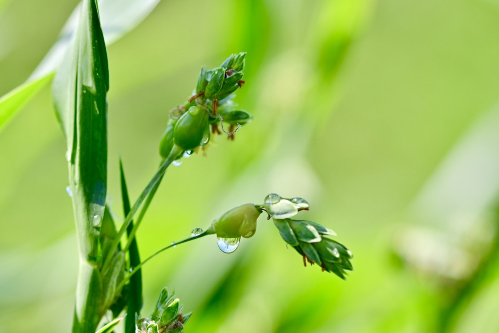
M0 95L78 1L0 0ZM201 65L247 51L254 115L166 174L143 258L227 209L301 196L354 253L346 282L304 268L264 217L231 255L214 238L143 269L194 315L186 332L499 332L499 1L162 0L108 48L109 201L134 200L169 110ZM44 88L0 133L0 333L68 332L77 250L65 142ZM497 281L496 281L497 280Z

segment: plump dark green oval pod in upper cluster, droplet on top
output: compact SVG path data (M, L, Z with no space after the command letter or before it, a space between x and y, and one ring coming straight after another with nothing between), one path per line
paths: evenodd
M202 106L193 106L177 121L173 142L183 150L193 150L210 140L208 112Z

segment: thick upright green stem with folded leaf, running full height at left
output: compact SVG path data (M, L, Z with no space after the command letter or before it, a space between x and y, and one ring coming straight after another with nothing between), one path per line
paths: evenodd
M108 88L107 52L97 3L83 0L78 28L52 90L66 136L80 254L73 333L95 332L101 317L103 288L98 254L107 189Z

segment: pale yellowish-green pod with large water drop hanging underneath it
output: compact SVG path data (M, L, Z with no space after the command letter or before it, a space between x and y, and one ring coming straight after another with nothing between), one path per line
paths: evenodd
M261 213L253 204L237 206L213 221L210 229L220 238L250 238L256 232L256 220Z

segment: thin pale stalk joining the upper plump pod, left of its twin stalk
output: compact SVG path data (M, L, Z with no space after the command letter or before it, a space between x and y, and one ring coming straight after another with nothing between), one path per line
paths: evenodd
M168 156L168 158L165 160L165 162L163 162L163 164L161 164L161 166L159 167L158 171L156 171L156 174L153 176L153 178L151 179L151 181L149 182L149 184L147 184L147 186L144 189L144 191L142 191L142 193L140 194L140 196L137 199L137 201L135 201L135 203L133 204L133 207L130 210L130 213L128 213L128 215L126 216L125 221L123 222L123 225L121 226L120 231L118 232L118 234L116 235L116 238L114 239L113 243L110 246L110 252L109 253L113 253L114 249L116 249L118 247L118 244L120 243L121 237L123 237L123 235L125 234L125 231L126 231L128 225L132 221L133 216L135 215L135 213L137 213L137 211L139 210L140 205L142 204L142 202L144 202L144 200L146 199L147 195L153 190L153 188L156 186L156 184L158 184L161 181L161 178L165 174L166 169L168 169L168 167L170 166L170 164L172 164L172 162L182 152L183 152L183 150L181 148L179 148L176 145L173 146L173 149L170 152L170 155ZM102 271L103 272L109 266L109 263L111 262L111 259L112 259L112 256L108 255L107 258L106 258L106 260L104 261L104 264L102 265Z

